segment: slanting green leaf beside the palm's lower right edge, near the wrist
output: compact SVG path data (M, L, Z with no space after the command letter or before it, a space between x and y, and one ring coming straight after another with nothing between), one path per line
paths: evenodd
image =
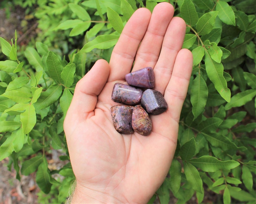
M202 193L202 179L199 175L198 170L190 163L184 163L184 173L192 189Z

